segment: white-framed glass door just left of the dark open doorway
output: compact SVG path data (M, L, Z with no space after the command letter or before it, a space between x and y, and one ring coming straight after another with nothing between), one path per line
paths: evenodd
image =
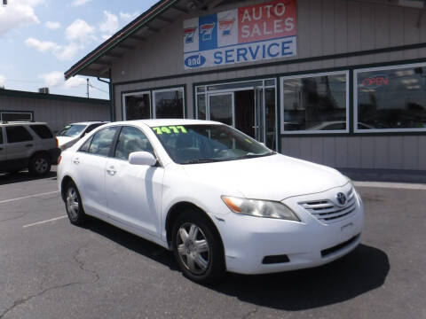
M209 94L208 102L210 121L219 121L232 127L235 125L233 92Z

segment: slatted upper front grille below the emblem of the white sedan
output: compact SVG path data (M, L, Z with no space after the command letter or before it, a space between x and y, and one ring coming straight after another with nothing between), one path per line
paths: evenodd
M340 222L344 218L355 213L357 209L357 200L353 188L346 193L346 198L347 200L344 206L338 206L330 199L300 202L299 205L303 206L312 216L316 217L319 222L329 224Z

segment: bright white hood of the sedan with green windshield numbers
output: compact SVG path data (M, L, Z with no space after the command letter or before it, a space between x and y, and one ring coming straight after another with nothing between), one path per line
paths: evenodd
M232 187L245 198L280 201L348 183L348 179L333 168L281 154L183 167L190 178L215 183L217 188Z

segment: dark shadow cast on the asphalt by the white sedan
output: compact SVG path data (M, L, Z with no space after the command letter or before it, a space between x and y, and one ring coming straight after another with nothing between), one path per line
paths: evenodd
M177 271L173 253L159 245L94 218L85 228ZM342 259L318 268L258 276L228 274L222 283L206 287L257 306L296 311L351 300L372 291L383 285L389 270L386 253L361 244Z

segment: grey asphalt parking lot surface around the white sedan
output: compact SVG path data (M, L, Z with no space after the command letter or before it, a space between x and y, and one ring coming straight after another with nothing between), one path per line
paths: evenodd
M72 226L55 174L0 175L0 318L426 318L426 186L384 186L358 187L366 227L343 259L202 286L157 245Z

